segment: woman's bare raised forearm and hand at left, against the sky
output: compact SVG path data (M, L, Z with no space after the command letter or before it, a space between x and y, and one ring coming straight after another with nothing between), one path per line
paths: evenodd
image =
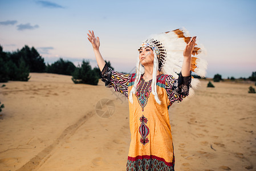
M94 48L94 54L95 54L95 58L97 60L97 65L100 68L100 71L103 70L104 66L105 66L105 61L102 58L101 54L100 54L100 39L99 37L95 38L94 35L94 31L90 31L89 30L89 34L88 35L88 40L92 43L92 48Z

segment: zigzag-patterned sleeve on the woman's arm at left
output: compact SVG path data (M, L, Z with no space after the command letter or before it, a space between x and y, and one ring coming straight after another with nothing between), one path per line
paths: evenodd
M113 87L115 91L123 93L128 98L128 84L131 74L122 74L113 71L105 64L101 71L101 80L105 83L105 86L110 88Z

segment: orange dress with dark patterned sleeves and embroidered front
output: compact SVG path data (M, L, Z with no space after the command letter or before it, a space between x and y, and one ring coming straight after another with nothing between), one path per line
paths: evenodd
M135 83L136 74L121 74L105 64L101 80L106 87L128 97ZM145 82L143 76L129 101L129 126L131 144L127 170L174 170L174 153L168 109L175 101L180 102L188 95L191 76L178 79L172 75L157 75L157 94L161 105L151 93L152 80Z

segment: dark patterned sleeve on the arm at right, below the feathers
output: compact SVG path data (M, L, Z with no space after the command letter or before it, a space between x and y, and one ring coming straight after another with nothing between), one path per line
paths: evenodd
M172 75L168 75L166 77L166 92L168 95L168 98L170 100L170 105L172 105L173 102L177 101L180 102L182 99L184 99L186 96L189 95L189 87L191 83L191 71L190 76L182 76L181 72L178 76L178 79L175 79Z

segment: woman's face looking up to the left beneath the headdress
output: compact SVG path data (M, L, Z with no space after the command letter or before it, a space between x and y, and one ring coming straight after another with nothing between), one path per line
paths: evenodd
M143 66L153 65L154 53L150 47L141 47L139 50L140 63Z

